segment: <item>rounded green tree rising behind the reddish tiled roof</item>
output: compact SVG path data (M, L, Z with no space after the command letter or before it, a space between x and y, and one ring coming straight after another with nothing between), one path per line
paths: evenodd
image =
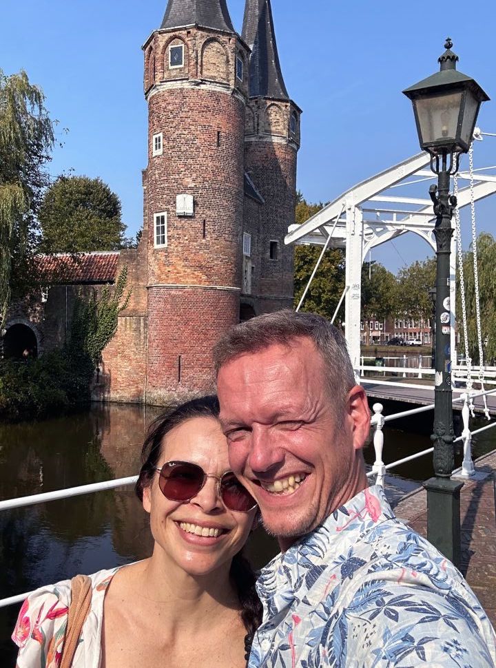
M58 178L45 192L39 222L48 253L115 251L125 242L121 202L101 178Z

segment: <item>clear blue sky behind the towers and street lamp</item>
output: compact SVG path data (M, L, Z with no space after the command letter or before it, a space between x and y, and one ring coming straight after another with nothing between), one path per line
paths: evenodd
M241 30L244 0L228 4ZM121 198L129 234L142 225L146 166L141 45L160 25L165 6L166 0L2 3L0 67L6 74L24 68L59 121L63 147L54 151L52 174L74 169L101 176ZM272 0L272 8L287 88L304 112L298 187L311 202L331 200L418 152L411 103L401 91L437 70L447 35L459 69L496 98L494 0L476 6ZM496 99L483 106L478 124L496 133ZM476 167L496 165L496 137L476 149ZM479 229L496 233L495 206L496 196L477 205ZM462 222L466 226L466 215ZM395 271L430 252L407 235L373 259Z

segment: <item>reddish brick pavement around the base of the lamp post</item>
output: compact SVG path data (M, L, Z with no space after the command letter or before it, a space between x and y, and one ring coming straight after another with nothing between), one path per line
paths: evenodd
M496 450L474 463L483 479L466 481L460 494L461 570L496 628ZM423 488L403 497L395 514L427 536L427 495Z

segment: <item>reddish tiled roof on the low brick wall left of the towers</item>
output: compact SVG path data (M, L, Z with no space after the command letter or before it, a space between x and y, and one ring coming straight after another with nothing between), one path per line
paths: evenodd
M113 283L118 251L97 253L56 253L38 255L37 262L47 283Z

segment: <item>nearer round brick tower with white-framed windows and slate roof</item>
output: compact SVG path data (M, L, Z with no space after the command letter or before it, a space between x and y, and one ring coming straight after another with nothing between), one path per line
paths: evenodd
M238 322L248 54L225 0L169 0L143 46L148 166L147 403L212 387Z

